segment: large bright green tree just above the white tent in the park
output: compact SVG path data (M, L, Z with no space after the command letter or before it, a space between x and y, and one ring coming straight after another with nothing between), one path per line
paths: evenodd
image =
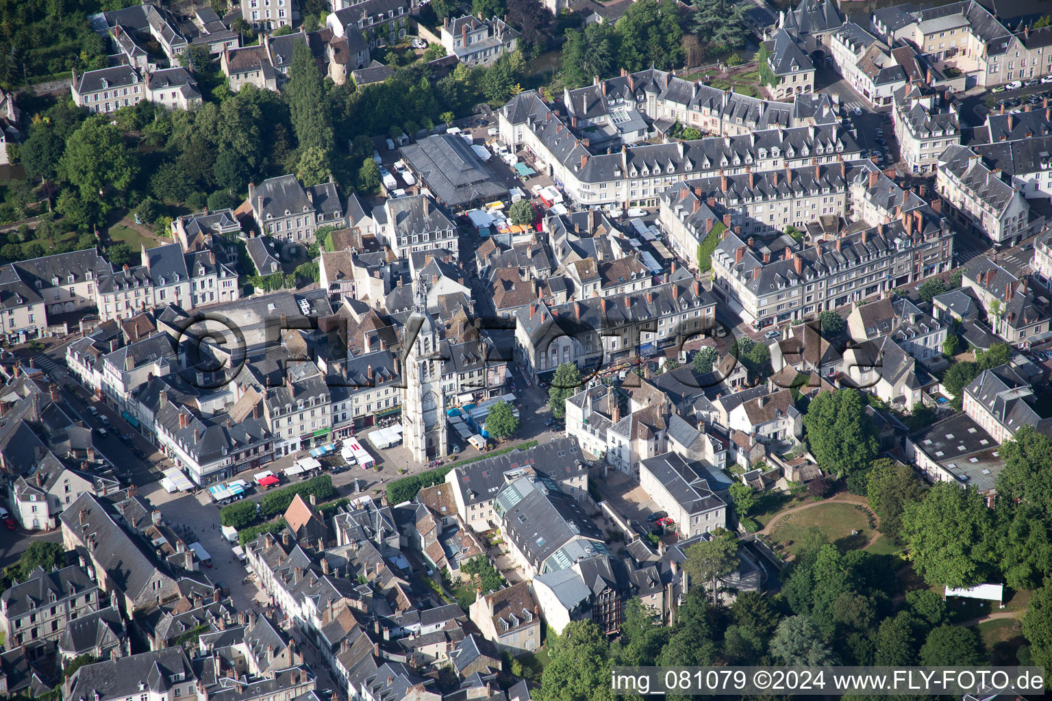
M906 504L899 537L926 583L972 586L994 570L992 529L978 492L940 481Z

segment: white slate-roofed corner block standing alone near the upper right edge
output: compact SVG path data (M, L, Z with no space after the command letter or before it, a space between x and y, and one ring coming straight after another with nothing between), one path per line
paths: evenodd
M891 118L903 161L910 172L934 171L946 148L960 143L956 103L948 90L923 85L905 85L894 97Z

